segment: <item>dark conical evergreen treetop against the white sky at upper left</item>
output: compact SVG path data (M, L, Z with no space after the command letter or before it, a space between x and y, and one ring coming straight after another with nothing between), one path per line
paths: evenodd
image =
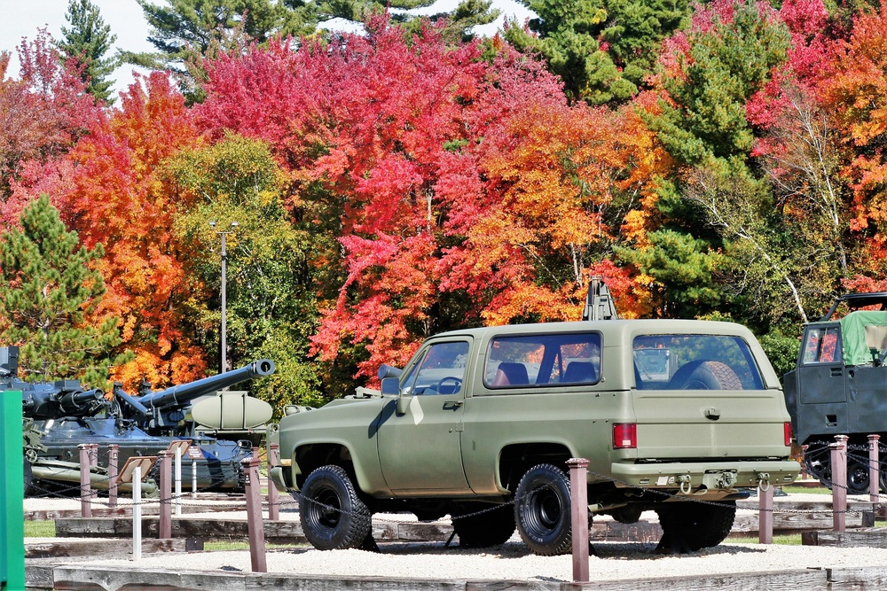
M117 35L111 33L98 6L90 0L69 0L65 19L71 27L61 27L65 38L59 42L59 50L82 67L81 77L90 94L110 105L114 102L110 91L114 81L106 77L114 72L117 60L105 55Z

